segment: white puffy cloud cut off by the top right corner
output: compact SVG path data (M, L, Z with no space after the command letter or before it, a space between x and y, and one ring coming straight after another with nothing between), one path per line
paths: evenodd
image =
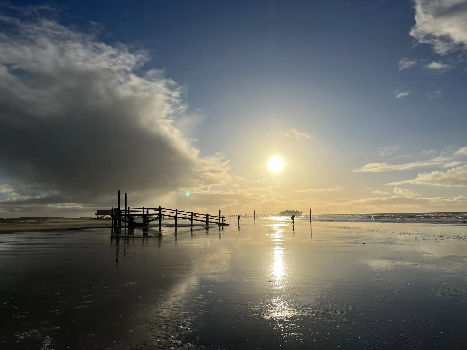
M410 35L441 55L466 49L467 0L414 0L414 8Z

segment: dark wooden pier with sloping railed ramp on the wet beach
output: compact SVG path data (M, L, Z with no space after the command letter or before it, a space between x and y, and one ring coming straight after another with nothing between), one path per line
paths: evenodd
M127 207L127 194L125 194L125 207L120 208L120 190L118 191L118 207L112 207L110 217L112 219L112 228L114 229L121 227L149 227L149 223L156 220L159 221L158 226L162 227L163 218L175 219L175 227L177 227L179 220L189 222L190 227L193 227L193 222L204 223L206 226L209 224L228 225L225 222L225 217L221 216L220 210L219 215L209 215L162 207L130 208Z

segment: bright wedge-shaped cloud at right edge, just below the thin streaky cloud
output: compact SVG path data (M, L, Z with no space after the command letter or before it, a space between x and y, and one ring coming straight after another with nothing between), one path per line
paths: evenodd
M432 171L431 173L418 174L415 179L391 182L388 185L397 186L405 183L443 187L467 187L467 164L447 171Z

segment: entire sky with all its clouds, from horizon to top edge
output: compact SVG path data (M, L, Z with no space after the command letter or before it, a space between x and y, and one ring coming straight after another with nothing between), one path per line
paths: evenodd
M0 217L467 210L467 0L0 4Z

